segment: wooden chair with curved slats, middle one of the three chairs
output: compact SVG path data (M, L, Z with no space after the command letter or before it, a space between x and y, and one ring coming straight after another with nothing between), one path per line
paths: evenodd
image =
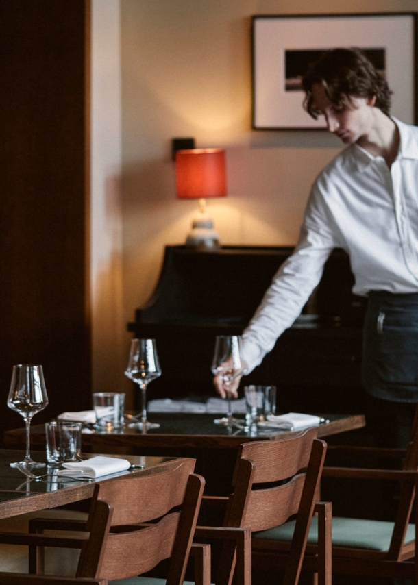
M321 584L331 582L331 505L315 503L326 444L316 437L317 428L312 428L285 440L241 445L234 470L234 493L228 499L204 497L204 502L216 506L223 501L224 527L251 528L253 560L260 531L282 525L296 515L291 542L276 553L282 556L285 585L299 582L314 512L318 514L320 545L312 551L312 559ZM198 526L195 536L211 538L213 530ZM223 545L217 585L230 585L237 553L235 543Z

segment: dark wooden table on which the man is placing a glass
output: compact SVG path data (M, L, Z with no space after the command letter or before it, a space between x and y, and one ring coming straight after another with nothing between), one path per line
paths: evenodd
M318 436L327 437L365 426L362 414L320 414L329 420L319 425ZM276 440L295 432L277 429L263 430L259 434L245 431L228 432L226 427L215 425L216 414L149 413L152 422L160 428L142 434L137 429L125 427L117 432L85 429L82 435L84 452L106 452L118 455L193 457L197 460L196 473L206 479L205 493L225 495L230 492L232 471L238 445L254 440ZM5 433L5 445L12 449L23 448L25 430L16 429ZM43 425L32 427L31 444L36 449L45 448Z

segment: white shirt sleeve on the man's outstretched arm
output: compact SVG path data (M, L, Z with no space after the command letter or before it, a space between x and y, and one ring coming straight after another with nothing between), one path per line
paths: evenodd
M312 290L319 284L323 266L339 245L332 232L329 211L316 184L312 188L299 241L280 266L249 325L243 332L243 358L251 372L290 327Z

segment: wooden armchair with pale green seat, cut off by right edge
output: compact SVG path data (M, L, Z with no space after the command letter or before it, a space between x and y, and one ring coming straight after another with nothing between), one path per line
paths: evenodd
M418 410L417 410L418 412ZM417 414L413 427L413 441L408 448L379 449L373 447L336 447L339 453L349 453L358 458L367 456L393 458L402 455L403 469L368 469L364 467L324 467L323 477L350 479L398 480L402 482L395 521L364 518L332 519L332 571L342 575L364 575L413 579L418 583L418 565L414 562L418 521L410 523L418 481L418 424ZM373 487L373 486L371 486ZM415 506L415 516L418 506ZM315 545L315 526L309 535L307 550ZM286 543L293 535L293 525L288 523L278 529L258 535L256 564L274 564L269 550ZM311 544L312 543L312 544ZM254 557L253 557L254 561Z

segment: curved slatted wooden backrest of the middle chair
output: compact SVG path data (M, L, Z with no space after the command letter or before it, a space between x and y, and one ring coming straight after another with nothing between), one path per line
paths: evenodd
M288 564L295 571L294 582L302 567L326 447L312 427L292 438L245 443L238 451L224 526L268 530L297 514ZM232 545L223 547L217 583L230 582L234 554Z

